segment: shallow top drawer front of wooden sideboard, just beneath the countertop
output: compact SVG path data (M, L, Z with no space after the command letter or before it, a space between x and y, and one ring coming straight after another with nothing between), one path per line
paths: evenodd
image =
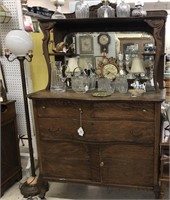
M39 117L67 117L79 119L126 119L154 121L154 104L152 103L116 103L116 102L81 102L81 101L39 101Z

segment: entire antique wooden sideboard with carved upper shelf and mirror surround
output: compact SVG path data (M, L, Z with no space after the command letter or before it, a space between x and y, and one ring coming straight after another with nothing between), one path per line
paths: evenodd
M47 181L148 188L159 195L159 144L163 89L165 11L147 17L40 19L49 82L45 90L28 95L33 101L40 178ZM129 93L93 97L92 92L52 93L50 32L63 41L69 32L146 31L156 43L155 91L132 98ZM158 83L158 87L157 87ZM78 133L82 126L84 135Z

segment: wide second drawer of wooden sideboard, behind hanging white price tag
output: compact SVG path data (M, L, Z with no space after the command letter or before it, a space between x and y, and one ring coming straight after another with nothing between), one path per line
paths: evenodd
M40 138L77 139L91 142L153 143L154 123L138 121L82 121L84 136L77 132L80 122L74 119L39 118ZM145 129L143 128L145 127Z

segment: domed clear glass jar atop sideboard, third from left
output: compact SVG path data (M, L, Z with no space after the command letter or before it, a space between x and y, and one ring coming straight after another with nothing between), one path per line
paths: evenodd
M130 5L121 0L120 4L116 6L117 17L130 17Z

